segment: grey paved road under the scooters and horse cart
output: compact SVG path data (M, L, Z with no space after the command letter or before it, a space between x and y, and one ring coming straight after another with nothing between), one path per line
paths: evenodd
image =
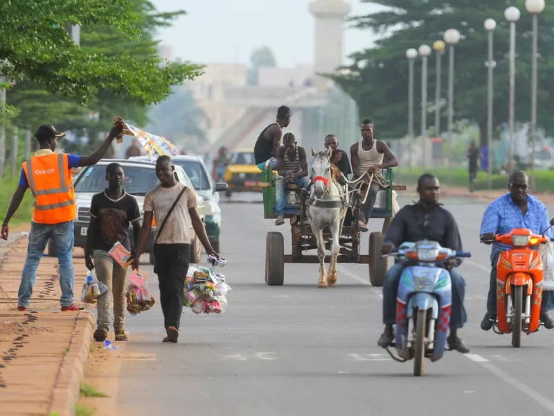
M262 218L259 203L226 203L229 310L220 316L186 311L178 345L160 342L159 306L129 317L127 351L157 359L123 365L118 404L125 412L118 414L554 414L554 333L524 336L523 347L513 349L510 336L479 329L488 290L489 250L477 239L485 205L443 202L474 254L461 268L470 317L462 335L472 354L447 352L414 378L413 362L395 363L376 345L381 290L369 285L367 266L339 266L337 287L322 290L316 265L287 265L285 286L266 286L265 234L276 227Z

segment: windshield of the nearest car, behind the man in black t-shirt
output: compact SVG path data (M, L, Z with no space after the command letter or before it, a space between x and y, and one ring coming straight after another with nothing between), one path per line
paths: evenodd
M106 165L89 166L75 182L75 192L102 192L107 188ZM156 171L148 166L123 166L123 189L132 195L145 196L159 184Z

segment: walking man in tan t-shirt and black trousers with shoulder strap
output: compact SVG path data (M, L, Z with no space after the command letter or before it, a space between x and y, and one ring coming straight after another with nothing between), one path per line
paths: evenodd
M144 198L144 222L141 229L139 245L135 250L133 268L139 268L139 259L150 236L152 218L156 213L156 223L160 227L166 218L173 202L181 193L184 184L175 178L175 166L169 156L161 156L156 162L156 175L160 184L148 192ZM177 343L179 338L179 324L184 304L184 289L188 263L190 261L190 241L193 226L198 238L208 254L219 257L208 240L204 223L196 211L196 194L194 189L187 188L175 209L173 209L161 234L157 235L154 245L154 271L158 275L160 284L160 304L163 312L166 338L164 343Z

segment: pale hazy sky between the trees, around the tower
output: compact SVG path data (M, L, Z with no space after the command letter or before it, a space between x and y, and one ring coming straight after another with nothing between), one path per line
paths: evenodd
M160 11L188 12L158 35L163 44L173 46L174 58L199 63L248 63L253 49L267 45L274 51L279 67L314 60L314 17L308 11L312 0L151 1ZM375 10L375 6L359 0L347 1L352 15ZM345 59L370 46L373 39L367 31L347 28Z

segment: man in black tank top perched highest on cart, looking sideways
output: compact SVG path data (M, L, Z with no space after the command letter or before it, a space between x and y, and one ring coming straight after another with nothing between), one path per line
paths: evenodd
M275 167L277 163L277 148L281 144L283 128L290 123L290 109L281 105L277 110L275 123L268 125L258 136L254 145L254 159L260 171L265 171L269 166Z

